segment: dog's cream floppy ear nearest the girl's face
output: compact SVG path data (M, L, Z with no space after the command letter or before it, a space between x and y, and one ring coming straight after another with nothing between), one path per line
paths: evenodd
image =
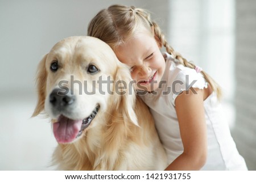
M114 81L115 107L122 116L138 126L137 116L134 111L136 94L131 79L130 69L121 62L118 63ZM121 109L122 108L122 109Z

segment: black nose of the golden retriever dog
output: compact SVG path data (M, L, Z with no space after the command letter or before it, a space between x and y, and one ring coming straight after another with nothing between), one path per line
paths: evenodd
M61 88L55 88L49 95L49 101L53 106L68 106L75 101L75 95L63 92Z

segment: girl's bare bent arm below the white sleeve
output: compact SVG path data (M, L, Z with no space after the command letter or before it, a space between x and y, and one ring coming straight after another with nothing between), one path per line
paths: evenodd
M184 151L166 170L200 170L204 166L207 159L205 92L207 89L191 88L177 96L175 107Z

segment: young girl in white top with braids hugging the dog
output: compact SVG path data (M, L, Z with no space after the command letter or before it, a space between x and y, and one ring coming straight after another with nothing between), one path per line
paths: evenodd
M218 84L168 45L146 10L110 6L92 19L88 35L130 66L168 154L166 170L247 170L221 118Z

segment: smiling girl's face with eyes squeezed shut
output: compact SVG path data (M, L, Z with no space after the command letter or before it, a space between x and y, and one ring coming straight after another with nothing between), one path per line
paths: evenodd
M137 33L114 52L119 61L130 66L137 90L151 92L159 87L166 64L160 44L148 32Z

